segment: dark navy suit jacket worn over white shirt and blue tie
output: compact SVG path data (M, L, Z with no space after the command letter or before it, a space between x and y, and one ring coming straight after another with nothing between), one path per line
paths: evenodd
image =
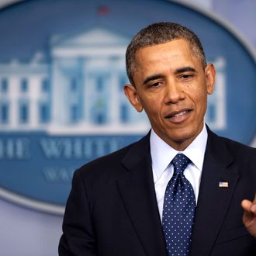
M255 256L256 240L242 223L240 202L254 199L256 149L208 134L191 255ZM75 171L63 230L60 255L167 255L149 134Z

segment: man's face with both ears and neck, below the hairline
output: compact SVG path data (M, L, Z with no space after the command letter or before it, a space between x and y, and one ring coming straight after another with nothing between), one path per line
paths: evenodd
M213 65L204 68L188 41L172 40L137 50L135 69L126 97L138 112L145 110L162 140L184 150L202 130Z

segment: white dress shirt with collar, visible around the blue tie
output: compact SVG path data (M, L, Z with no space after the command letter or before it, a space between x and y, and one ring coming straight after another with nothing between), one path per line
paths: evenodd
M159 214L162 220L162 212L164 205L164 193L168 182L173 175L172 159L176 154L182 153L192 161L191 164L185 168L185 178L191 183L195 192L195 202L197 202L199 195L199 185L202 174L202 164L206 151L207 143L206 125L203 126L201 133L192 141L184 151L177 151L164 142L154 130L150 133L150 154L152 158L152 169L154 177L154 189L157 196L157 205Z

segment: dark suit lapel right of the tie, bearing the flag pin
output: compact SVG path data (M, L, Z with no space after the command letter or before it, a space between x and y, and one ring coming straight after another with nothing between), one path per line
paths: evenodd
M239 179L234 159L220 137L209 137L192 234L192 256L209 255ZM228 187L220 187L227 182ZM226 185L227 185L226 183Z

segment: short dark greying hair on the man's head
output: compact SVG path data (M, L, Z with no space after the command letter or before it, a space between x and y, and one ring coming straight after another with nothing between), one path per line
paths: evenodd
M126 72L130 83L134 85L133 74L135 71L135 54L143 47L150 47L171 40L184 39L190 43L191 49L196 57L202 60L203 67L206 66L206 56L199 37L185 26L173 22L158 22L140 30L130 42L126 50Z

